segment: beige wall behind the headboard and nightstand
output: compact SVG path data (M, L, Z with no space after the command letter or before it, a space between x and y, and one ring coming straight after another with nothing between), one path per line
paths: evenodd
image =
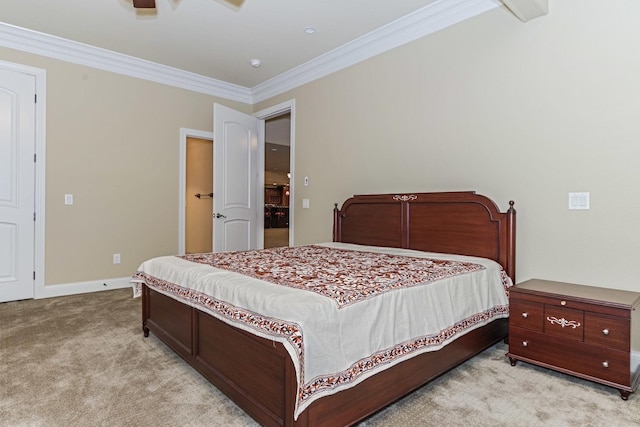
M496 9L254 106L296 100L296 244L329 240L352 194L477 190L516 202L519 281L640 291L640 3L550 8ZM590 210L567 209L573 191Z

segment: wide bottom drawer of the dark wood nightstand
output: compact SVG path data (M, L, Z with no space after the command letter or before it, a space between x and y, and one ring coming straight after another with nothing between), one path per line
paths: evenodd
M561 368L567 373L630 386L629 353L575 342L567 346L561 337L509 329L509 353L531 363Z

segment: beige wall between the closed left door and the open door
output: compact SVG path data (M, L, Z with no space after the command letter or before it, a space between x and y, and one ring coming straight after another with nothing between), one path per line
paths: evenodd
M47 71L45 285L127 277L176 253L180 128L211 131L214 102L250 106L6 48L0 58Z

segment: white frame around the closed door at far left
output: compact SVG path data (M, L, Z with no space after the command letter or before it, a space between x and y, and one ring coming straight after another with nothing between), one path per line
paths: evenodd
M28 65L0 61L0 68L34 76L36 83L35 102L35 179L33 188L34 244L33 244L33 297L44 298L44 223L45 223L45 166L46 166L46 107L47 71Z

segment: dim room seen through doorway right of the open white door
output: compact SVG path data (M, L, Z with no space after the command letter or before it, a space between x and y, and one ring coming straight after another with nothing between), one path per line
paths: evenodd
M264 247L289 246L291 113L265 120Z

